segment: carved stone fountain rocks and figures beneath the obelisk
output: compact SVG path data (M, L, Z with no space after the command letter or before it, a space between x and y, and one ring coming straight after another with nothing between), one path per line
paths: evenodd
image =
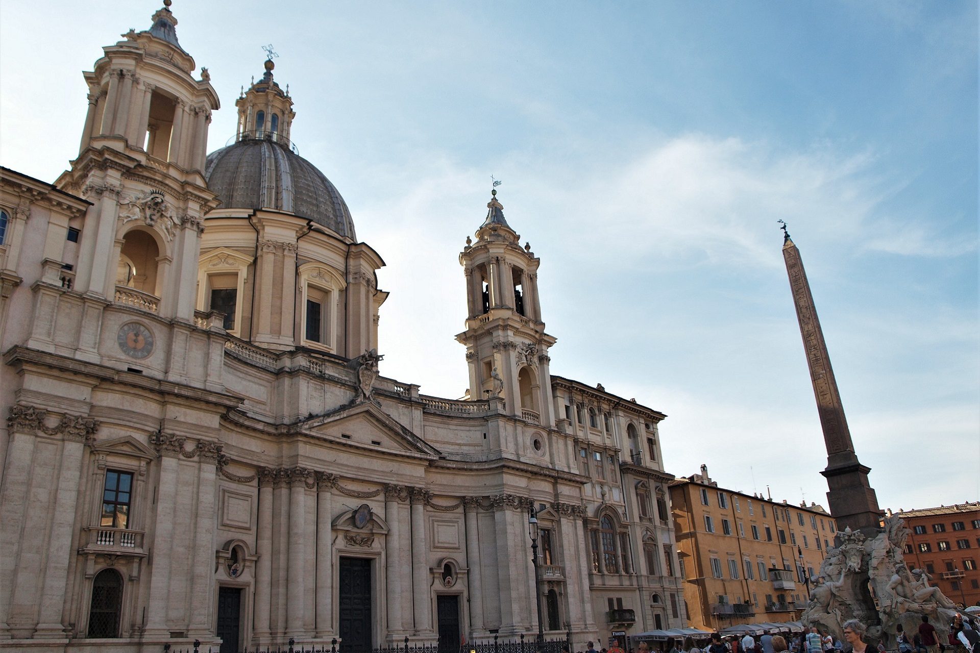
M826 628L843 640L844 622L857 619L868 627L870 639L893 649L898 624L915 632L922 615L928 615L945 641L956 604L929 584L928 574L908 570L903 555L908 534L898 516L886 518L885 528L872 538L850 529L838 534L839 544L827 549L810 591L804 625Z

